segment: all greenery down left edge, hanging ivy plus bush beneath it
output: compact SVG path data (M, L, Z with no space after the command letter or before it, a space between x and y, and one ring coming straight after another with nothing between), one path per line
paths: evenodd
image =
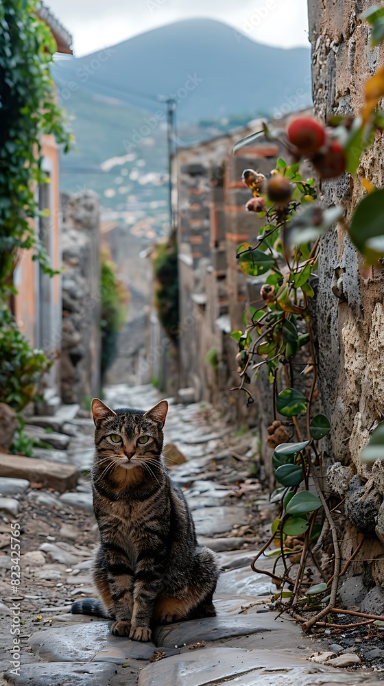
M36 0L0 3L0 401L18 412L35 399L37 383L51 366L18 331L8 298L16 293L13 274L21 250L33 250L32 259L55 273L34 219L48 213L38 209L35 196L36 186L49 181L41 168L41 137L52 134L65 151L72 139L49 73L56 49ZM14 451L27 452L20 416L15 441Z

